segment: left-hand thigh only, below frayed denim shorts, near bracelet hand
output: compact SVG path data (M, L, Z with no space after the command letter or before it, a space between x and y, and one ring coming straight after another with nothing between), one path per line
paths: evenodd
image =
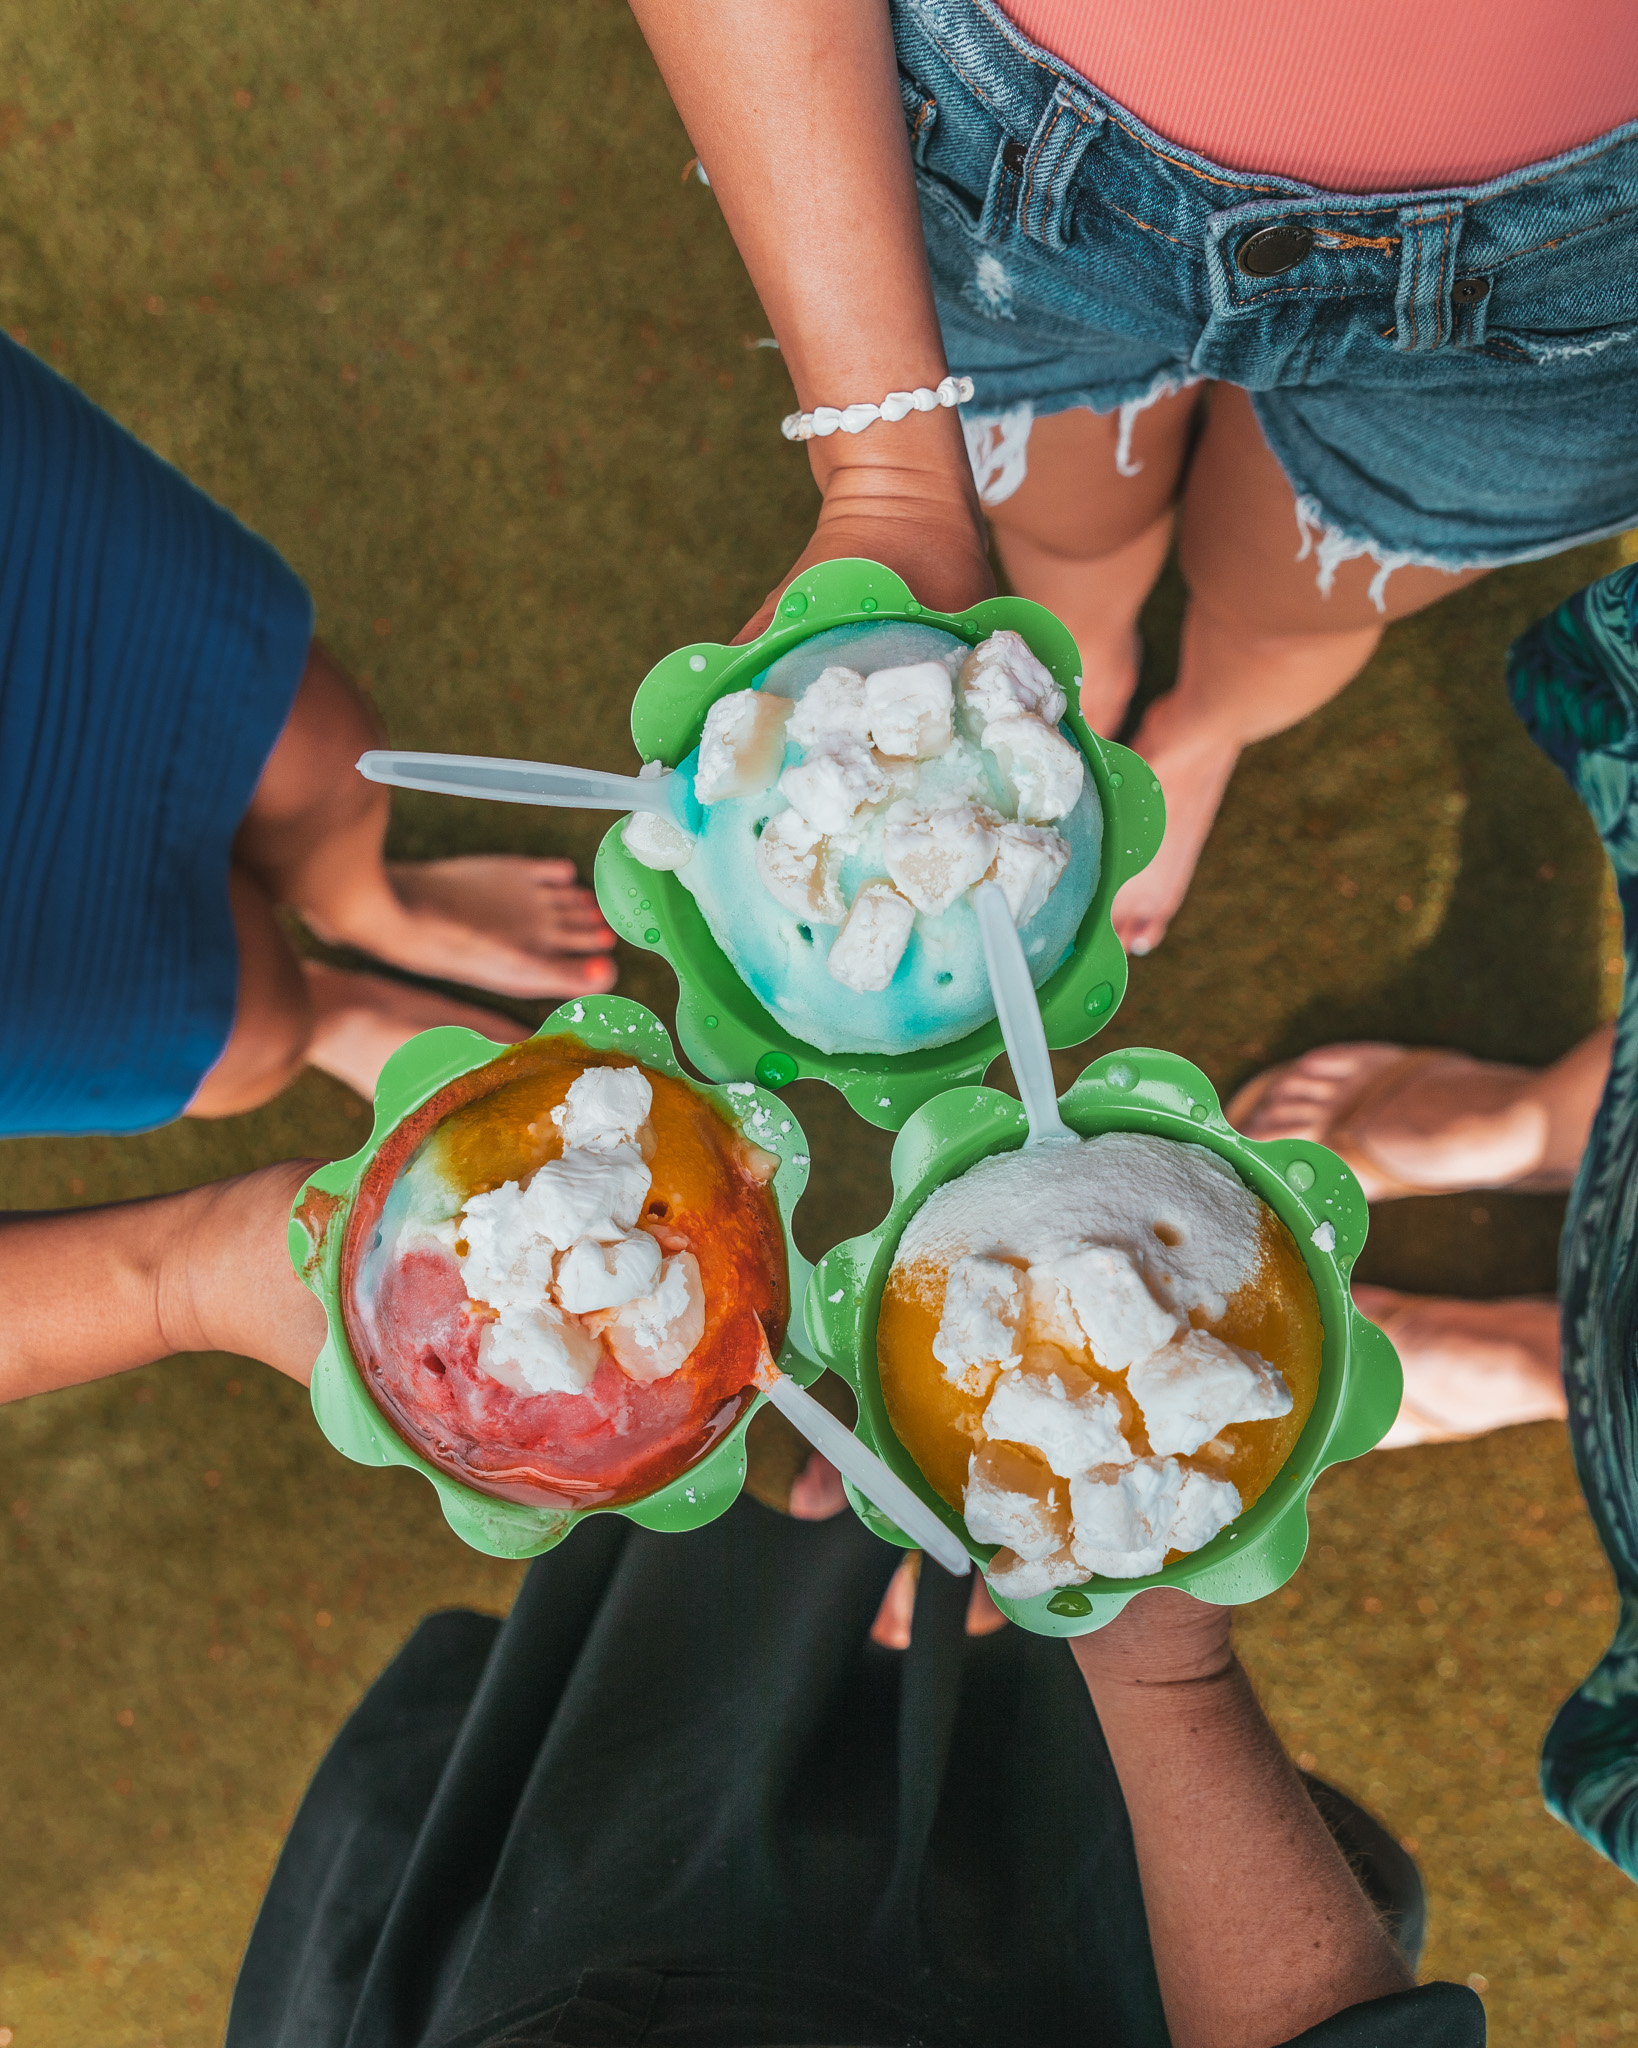
M1081 561L1126 547L1177 500L1198 401L1194 385L1145 406L1132 420L1126 473L1118 412L1073 406L1036 420L1024 481L989 508L991 524L1003 539Z

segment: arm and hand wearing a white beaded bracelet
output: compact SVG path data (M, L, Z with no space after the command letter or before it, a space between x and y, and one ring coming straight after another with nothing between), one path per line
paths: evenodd
M778 336L796 403L946 375L887 0L633 0ZM774 420L768 432L778 432ZM885 561L936 610L993 594L954 410L807 444L823 508L799 569ZM772 616L782 575L745 635Z

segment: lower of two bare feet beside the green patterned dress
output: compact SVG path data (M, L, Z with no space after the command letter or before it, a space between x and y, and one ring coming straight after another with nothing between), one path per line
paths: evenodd
M1550 1294L1441 1300L1355 1282L1353 1303L1388 1333L1405 1368L1405 1401L1378 1450L1448 1444L1568 1413Z

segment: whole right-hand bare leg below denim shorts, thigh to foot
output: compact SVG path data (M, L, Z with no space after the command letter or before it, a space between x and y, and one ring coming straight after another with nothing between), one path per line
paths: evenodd
M1321 596L1298 561L1292 487L1245 391L1212 385L1190 461L1179 561L1190 586L1177 686L1151 705L1134 745L1165 791L1159 856L1116 899L1130 952L1149 952L1181 905L1241 748L1329 702L1376 651L1382 627L1437 602L1482 569L1396 569L1378 612L1376 563L1349 561Z

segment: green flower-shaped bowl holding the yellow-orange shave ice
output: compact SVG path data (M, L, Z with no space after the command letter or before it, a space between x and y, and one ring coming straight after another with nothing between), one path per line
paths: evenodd
M995 1604L1034 1634L1079 1636L1112 1622L1149 1585L1181 1585L1216 1606L1261 1599L1302 1563L1312 1483L1329 1464L1357 1458L1380 1442L1398 1413L1394 1348L1360 1315L1347 1290L1349 1268L1366 1241L1366 1198L1343 1161L1323 1145L1243 1139L1224 1120L1206 1075L1175 1053L1108 1053L1061 1098L1061 1108L1081 1137L1145 1130L1208 1145L1226 1159L1296 1239L1319 1294L1325 1352L1314 1409L1290 1458L1267 1491L1204 1550L1149 1579L1089 1579L1036 1599L997 1597ZM858 1436L944 1518L979 1565L995 1554L993 1546L971 1542L960 1516L932 1491L887 1419L876 1315L899 1237L915 1210L934 1188L979 1159L1020 1147L1026 1128L1022 1106L993 1087L956 1087L917 1110L893 1147L893 1208L868 1237L852 1237L825 1253L807 1300L807 1327L819 1358L858 1395ZM909 1548L909 1538L880 1509L852 1489L850 1499L868 1528Z

